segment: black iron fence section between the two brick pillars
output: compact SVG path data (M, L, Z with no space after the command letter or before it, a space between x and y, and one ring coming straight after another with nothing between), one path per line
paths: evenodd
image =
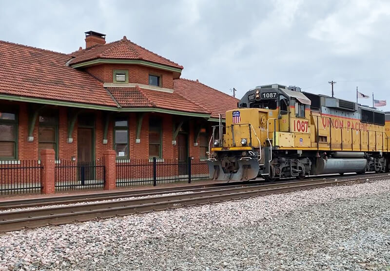
M98 189L104 186L104 159L92 162L61 160L54 168L56 191Z

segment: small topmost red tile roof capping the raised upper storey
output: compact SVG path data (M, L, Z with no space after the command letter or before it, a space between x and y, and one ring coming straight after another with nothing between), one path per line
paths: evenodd
M183 69L183 66L167 59L163 58L130 40L123 37L121 40L106 43L104 45L94 45L90 48L76 51L70 54L74 57L70 64L76 64L87 60L96 58L110 58L110 59L142 59L158 64L163 64L179 69Z

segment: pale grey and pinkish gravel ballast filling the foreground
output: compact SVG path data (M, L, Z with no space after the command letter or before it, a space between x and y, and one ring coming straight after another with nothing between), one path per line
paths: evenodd
M0 270L390 270L390 180L10 232Z

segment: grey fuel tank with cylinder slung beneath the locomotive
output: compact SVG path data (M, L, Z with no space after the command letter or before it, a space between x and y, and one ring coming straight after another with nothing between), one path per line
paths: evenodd
M364 172L366 167L367 160L364 158L317 158L312 166L311 174Z

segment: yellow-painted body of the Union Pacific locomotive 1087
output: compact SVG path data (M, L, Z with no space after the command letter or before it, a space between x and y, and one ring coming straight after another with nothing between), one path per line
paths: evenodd
M212 151L252 150L259 147L259 141L262 147L271 143L280 150L389 151L390 121L385 126L368 124L359 119L311 112L308 108L305 116L296 116L293 106L284 115L279 115L278 109L227 111L222 148ZM234 111L240 112L240 122L236 124L233 124ZM241 145L242 138L247 139L246 146Z

